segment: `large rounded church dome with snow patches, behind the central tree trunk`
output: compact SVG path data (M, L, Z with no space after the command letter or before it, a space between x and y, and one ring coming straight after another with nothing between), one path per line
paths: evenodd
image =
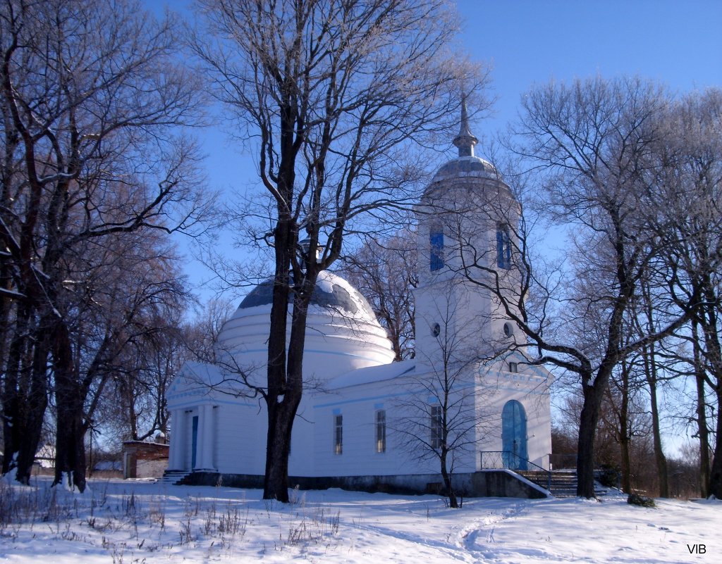
M272 291L272 280L253 288L218 336L220 353L230 353L239 366L253 366L259 374L268 361ZM340 276L323 270L308 309L303 358L305 376L328 379L389 363L394 353L364 296Z

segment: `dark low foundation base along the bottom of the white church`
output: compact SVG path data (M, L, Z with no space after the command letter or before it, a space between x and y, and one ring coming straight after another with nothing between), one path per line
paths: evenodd
M368 493L398 493L403 495L444 494L443 482L438 474L390 476L334 476L289 477L289 488L300 490L342 490ZM263 489L264 477L249 474L222 474L219 472L192 472L181 480L181 485L212 485L229 488ZM506 470L485 470L457 474L453 477L457 495L469 498L526 498L547 497L545 490Z

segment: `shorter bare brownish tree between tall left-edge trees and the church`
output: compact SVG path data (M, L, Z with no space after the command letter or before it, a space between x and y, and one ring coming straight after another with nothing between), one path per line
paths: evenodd
M58 300L64 323L56 326L62 334L53 348L56 483L67 477L81 490L85 433L95 426L108 382L130 368L125 353L143 341L149 348L189 298L174 253L153 246L162 237L134 232L108 239L93 239L82 260L67 265L82 284L64 287ZM162 410L158 415L162 424Z

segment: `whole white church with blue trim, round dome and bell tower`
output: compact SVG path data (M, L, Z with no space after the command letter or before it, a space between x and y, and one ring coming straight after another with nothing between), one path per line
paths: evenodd
M484 290L495 279L510 298L518 292L510 229L518 224L518 204L495 167L474 156L477 139L465 111L453 142L458 157L440 167L416 208L415 358L393 362L366 299L334 273L318 278L290 486L432 490L441 482L437 454L445 430L455 487L469 495L534 495L520 492L529 483L513 471L549 469L552 376L525 363L516 346L521 331ZM266 372L270 312L266 281L219 335L219 348L258 382ZM167 400L171 480L262 487L261 397L251 397L221 366L186 363Z

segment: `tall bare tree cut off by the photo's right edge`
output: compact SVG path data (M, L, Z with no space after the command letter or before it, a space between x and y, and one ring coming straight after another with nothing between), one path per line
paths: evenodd
M690 94L667 114L671 131L656 157L663 164L656 227L669 245L669 291L677 307L692 317L703 495L722 496L722 418L717 418L715 446L706 415L708 394L715 410L722 400L722 91ZM708 467L710 451L712 463Z

